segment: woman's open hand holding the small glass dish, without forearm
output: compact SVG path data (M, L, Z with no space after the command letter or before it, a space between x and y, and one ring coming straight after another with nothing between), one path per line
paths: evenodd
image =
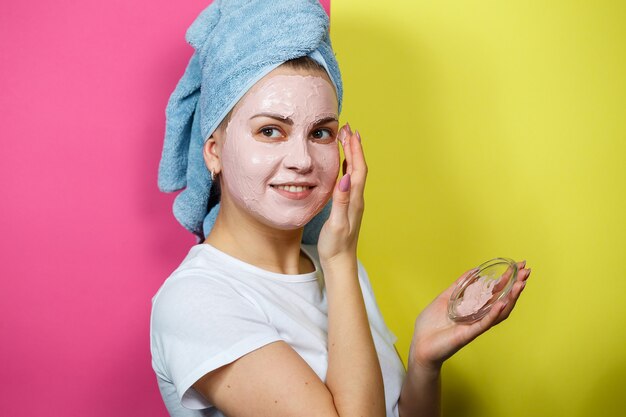
M505 320L515 307L530 275L530 269L525 268L525 262L518 262L517 265L519 272L511 292L506 298L498 301L479 321L462 324L448 317L448 300L454 287L457 282L472 273L472 270L465 272L457 282L435 298L415 320L415 331L409 351L409 369L415 366L427 370L440 369L443 362L459 349Z

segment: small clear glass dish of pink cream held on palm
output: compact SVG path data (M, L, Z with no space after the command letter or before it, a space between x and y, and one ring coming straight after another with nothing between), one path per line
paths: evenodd
M506 297L517 279L512 259L495 258L459 282L448 302L448 315L457 322L471 323L483 318L493 305Z

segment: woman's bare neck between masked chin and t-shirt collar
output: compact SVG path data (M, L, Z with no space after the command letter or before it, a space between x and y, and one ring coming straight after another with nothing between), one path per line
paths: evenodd
M274 229L247 213L232 209L233 204L228 198L222 198L215 225L205 243L246 263L280 274L302 274L315 269L301 254L303 228Z

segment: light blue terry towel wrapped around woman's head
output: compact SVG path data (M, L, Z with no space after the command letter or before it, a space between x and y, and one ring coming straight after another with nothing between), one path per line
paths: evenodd
M166 108L159 189L184 190L174 216L201 241L215 222L204 142L239 99L261 78L290 59L309 56L328 72L339 101L343 87L329 37L328 15L318 0L215 0L187 30L195 52ZM316 243L330 203L304 228Z

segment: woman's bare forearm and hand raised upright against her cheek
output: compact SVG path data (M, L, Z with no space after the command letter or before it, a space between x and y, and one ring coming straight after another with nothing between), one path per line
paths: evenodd
M358 132L346 126L339 140L346 156L345 175L333 194L318 243L328 298L326 385L340 415L380 417L385 415L385 391L356 257L367 165Z

